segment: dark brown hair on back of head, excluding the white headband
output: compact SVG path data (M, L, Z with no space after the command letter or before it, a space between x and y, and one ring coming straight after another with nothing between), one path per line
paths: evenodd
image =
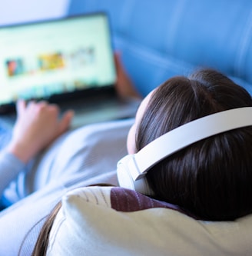
M217 71L171 78L151 97L138 127L137 150L194 119L248 106L247 91ZM165 158L146 177L159 199L198 218L222 221L252 212L251 168L252 127L246 127L198 141Z

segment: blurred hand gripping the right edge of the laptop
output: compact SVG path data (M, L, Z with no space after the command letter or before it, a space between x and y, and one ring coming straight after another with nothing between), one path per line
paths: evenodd
M138 91L134 88L131 78L126 73L121 63L121 55L118 52L114 54L114 62L118 78L115 85L118 95L121 97L141 98Z

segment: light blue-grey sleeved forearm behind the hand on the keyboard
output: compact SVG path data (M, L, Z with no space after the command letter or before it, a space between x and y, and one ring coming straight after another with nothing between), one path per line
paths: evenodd
M8 151L0 152L0 197L7 186L18 173L23 170L25 164Z

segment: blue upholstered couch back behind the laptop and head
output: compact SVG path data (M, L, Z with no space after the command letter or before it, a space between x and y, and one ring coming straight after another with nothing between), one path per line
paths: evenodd
M114 48L141 95L173 75L215 68L252 95L250 0L71 0L68 15L108 12Z

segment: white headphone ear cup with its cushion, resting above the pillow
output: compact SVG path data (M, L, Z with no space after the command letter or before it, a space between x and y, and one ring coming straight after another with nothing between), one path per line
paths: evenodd
M120 187L129 188L142 194L153 195L154 193L151 191L146 178L143 177L137 181L134 181L132 178L128 162L133 157L134 155L126 155L124 158L121 158L121 160L118 161L117 174Z

